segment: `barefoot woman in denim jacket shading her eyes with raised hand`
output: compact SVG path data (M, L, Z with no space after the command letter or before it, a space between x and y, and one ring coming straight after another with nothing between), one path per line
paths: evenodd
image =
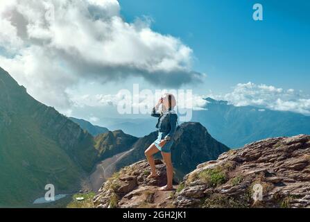
M153 155L161 151L162 157L166 164L167 172L167 185L161 187L160 190L169 191L173 189L173 166L171 162L171 146L173 144L173 134L175 133L178 115L175 114L173 108L176 105L175 97L173 94L164 94L160 101L158 101L155 108L153 108L152 117L158 117L156 128L158 128L158 137L145 151L146 158L150 164L149 178L159 176L156 173L155 161ZM156 111L160 108L162 111L157 113Z

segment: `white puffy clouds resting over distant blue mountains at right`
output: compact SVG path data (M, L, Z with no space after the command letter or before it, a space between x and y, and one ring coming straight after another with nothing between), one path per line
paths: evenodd
M310 96L294 89L282 89L272 85L257 85L255 83L239 83L232 92L214 96L223 99L232 105L253 105L269 110L291 111L301 114L310 114Z

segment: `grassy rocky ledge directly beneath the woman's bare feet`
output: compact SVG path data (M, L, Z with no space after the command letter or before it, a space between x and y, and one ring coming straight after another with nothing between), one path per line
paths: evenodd
M164 208L173 207L173 191L160 191L166 185L166 167L155 160L158 178L148 178L150 167L146 160L121 169L109 178L94 197L98 208Z

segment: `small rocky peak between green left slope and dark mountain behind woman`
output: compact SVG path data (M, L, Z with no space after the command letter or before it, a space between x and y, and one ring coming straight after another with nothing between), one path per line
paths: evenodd
M123 133L122 130L108 131L95 137L95 147L103 160L118 153L129 151L137 140L137 137Z

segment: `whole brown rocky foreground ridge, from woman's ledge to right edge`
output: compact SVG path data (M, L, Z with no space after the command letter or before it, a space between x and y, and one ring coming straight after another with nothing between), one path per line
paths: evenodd
M160 191L166 170L148 178L146 160L124 167L94 197L98 208L310 207L310 136L277 137L223 153L199 164L174 191Z

